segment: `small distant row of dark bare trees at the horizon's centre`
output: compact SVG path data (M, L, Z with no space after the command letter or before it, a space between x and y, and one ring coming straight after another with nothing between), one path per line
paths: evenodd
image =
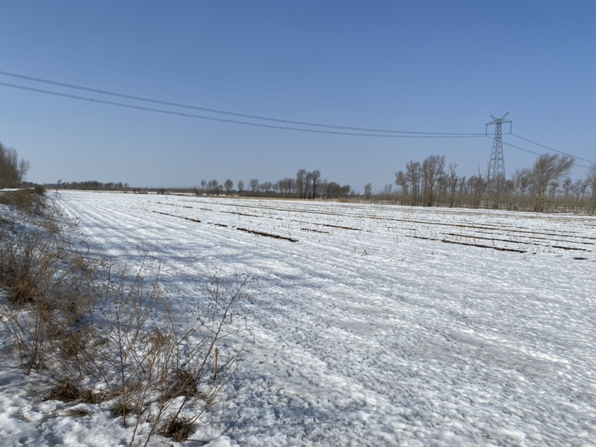
M352 194L352 187L321 179L321 171L318 169L314 171L299 169L294 178L285 177L276 182L250 179L248 185L245 185L243 180L239 180L236 189L232 179L227 179L224 184L219 184L216 179L202 180L201 188L196 192L212 196L239 194L241 196L297 197L298 199L339 199Z

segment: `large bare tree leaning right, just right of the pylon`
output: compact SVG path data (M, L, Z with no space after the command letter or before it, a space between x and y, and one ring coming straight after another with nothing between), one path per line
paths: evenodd
M535 211L545 211L545 196L547 189L553 191L562 176L567 174L575 159L572 156L560 154L542 154L532 168L532 184L536 192Z

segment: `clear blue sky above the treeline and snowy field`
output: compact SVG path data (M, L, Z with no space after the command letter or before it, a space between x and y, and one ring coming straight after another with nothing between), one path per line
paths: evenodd
M510 112L514 134L596 160L593 0L3 0L0 71L358 128L483 134L491 114ZM306 129L5 75L0 82ZM432 154L457 164L460 176L479 167L485 172L492 149L484 136L411 139L272 129L8 86L0 86L0 141L31 161L28 179L39 183L194 186L229 178L235 184L277 181L304 168L359 191L367 182L382 189L407 161ZM503 141L550 153L513 135L504 134ZM504 151L508 177L537 158L512 146ZM572 174L586 171L578 166Z

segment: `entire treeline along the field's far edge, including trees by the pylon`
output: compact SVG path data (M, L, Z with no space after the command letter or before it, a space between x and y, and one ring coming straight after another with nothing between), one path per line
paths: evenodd
M572 181L568 176L575 160L566 155L541 155L531 168L517 169L510 179L490 179L477 171L472 176L457 174L457 164L447 166L445 157L432 155L423 161L409 161L395 173L394 181L374 192L372 184L364 192L348 184L322 179L317 169L299 169L294 177L278 181L241 179L202 180L192 188L131 187L126 183L100 181L58 181L58 189L90 191L129 191L143 193L186 193L197 196L253 196L296 199L351 199L384 201L408 206L509 209L518 211L565 211L596 214L596 164L585 179ZM394 188L394 186L397 186Z

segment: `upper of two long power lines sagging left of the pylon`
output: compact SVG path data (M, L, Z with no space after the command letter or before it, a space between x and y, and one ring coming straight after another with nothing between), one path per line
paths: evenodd
M153 104L162 104L164 106L173 106L173 107L180 107L183 109L199 110L199 111L204 111L204 112L213 113L213 114L240 116L242 118L259 119L259 120L273 121L273 122L284 123L284 124L294 124L297 126L312 126L312 127L321 127L321 128L325 128L325 129L340 129L340 130L344 130L344 131L374 132L374 133L385 133L385 134L408 134L408 135L427 135L427 136L434 135L434 136L445 136L445 137L447 137L447 136L452 136L452 137L483 136L483 134L466 134L466 133L457 133L457 132L422 132L422 131L397 131L397 130L391 130L391 129L367 129L367 128L362 128L362 127L335 126L332 124L310 123L307 121L292 121L292 120L288 120L288 119L270 118L267 116L241 114L241 113L232 112L232 111L208 109L206 107L199 107L199 106L190 106L188 104L179 104L179 103L170 102L170 101L161 101L159 99L144 98L142 96L134 96L134 95L129 95L129 94L115 93L113 91L91 89L89 87L76 86L74 84L66 84L66 83L58 82L58 81L50 81L48 79L39 79L39 78L31 77L31 76L25 76L22 74L9 73L7 71L0 71L0 74L3 76L11 76L11 77L18 78L18 79L25 79L27 81L41 82L44 84L61 86L61 87L69 88L69 89L77 89L77 90L82 90L82 91L89 91L91 93L96 93L96 94L105 94L105 95L109 95L109 96L117 96L119 98L132 99L134 101L145 101L145 102L150 102ZM6 84L2 84L2 85L6 85Z

